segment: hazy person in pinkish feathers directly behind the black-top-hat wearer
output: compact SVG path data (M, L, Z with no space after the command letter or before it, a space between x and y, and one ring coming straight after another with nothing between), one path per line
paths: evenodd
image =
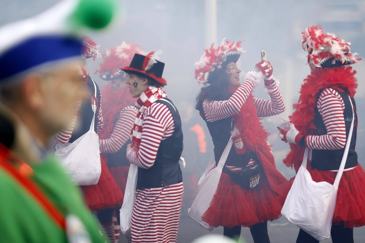
M103 93L104 127L99 133L101 157L106 161L111 175L124 195L126 189L129 162L126 157L127 144L130 143L131 129L134 124L137 108L126 86L126 73L120 68L127 66L135 53L143 54L141 47L123 42L117 47L105 51L104 60L100 63L100 78L108 81ZM128 142L129 141L129 142ZM100 223L115 226L108 230L111 242L118 242L120 218L119 209L107 208L97 212ZM130 237L127 236L130 242Z

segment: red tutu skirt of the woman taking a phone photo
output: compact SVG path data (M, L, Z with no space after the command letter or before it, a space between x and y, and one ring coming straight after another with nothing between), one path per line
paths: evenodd
M281 216L289 188L290 184L286 183L283 193L278 195L270 190L266 175L261 173L260 184L254 189L246 189L222 173L215 195L202 219L214 227L250 227L275 220Z

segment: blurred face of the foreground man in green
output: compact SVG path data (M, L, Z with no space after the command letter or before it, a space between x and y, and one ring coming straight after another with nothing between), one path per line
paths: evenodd
M50 134L68 129L76 107L87 97L87 87L80 77L80 62L68 63L41 75L39 106L35 107L43 127Z

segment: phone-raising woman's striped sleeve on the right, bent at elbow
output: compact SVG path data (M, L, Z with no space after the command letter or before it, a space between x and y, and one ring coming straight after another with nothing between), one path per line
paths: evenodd
M258 117L269 117L283 113L285 111L285 105L276 81L266 86L266 90L270 95L270 100L258 98L254 100Z

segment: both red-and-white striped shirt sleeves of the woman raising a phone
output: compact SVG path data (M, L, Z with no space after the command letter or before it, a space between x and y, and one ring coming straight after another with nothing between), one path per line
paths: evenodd
M254 98L259 117L277 115L285 110L283 97L277 83L274 82L266 88L269 90L270 100ZM246 102L252 89L253 84L245 80L227 101L208 101L205 99L203 101L205 119L208 122L214 122L237 114Z

